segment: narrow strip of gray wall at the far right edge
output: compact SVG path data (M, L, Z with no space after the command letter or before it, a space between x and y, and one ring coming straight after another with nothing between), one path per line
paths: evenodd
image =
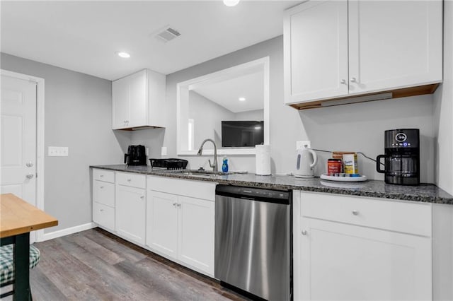
M453 194L453 1L444 2L444 81L434 96L435 182Z

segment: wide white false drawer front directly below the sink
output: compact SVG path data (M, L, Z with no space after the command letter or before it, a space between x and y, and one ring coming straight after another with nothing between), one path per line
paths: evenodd
M168 194L179 194L210 201L214 201L215 199L215 187L217 185L217 183L214 182L152 176L148 176L147 184L149 190L162 191Z

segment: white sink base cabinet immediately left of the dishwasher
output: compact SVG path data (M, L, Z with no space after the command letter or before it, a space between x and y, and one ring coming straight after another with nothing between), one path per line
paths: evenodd
M194 189L190 188L192 183ZM149 176L147 246L214 276L215 186L213 182Z

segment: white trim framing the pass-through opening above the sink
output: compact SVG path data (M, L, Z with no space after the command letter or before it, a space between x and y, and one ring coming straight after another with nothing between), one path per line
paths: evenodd
M254 61L248 61L245 64L240 64L233 66L221 71L216 71L214 73L206 74L197 78L192 78L188 81L180 82L176 85L176 152L178 155L196 155L196 151L188 151L185 143L188 141L187 130L182 129L182 126L187 124L183 122L185 120L185 113L181 110L182 101L186 97L183 93L183 89L191 90L196 85L200 83L211 83L212 81L219 81L222 78L225 78L231 74L238 73L239 71L251 71L263 69L263 83L264 83L264 144L270 144L270 67L269 67L269 57L263 57L261 59L256 59ZM183 139L183 140L181 140ZM196 147L196 146L195 146ZM195 153L194 153L195 152ZM214 151L203 151L203 155L212 155ZM217 150L219 155L255 155L255 148L228 148L228 149L219 149Z

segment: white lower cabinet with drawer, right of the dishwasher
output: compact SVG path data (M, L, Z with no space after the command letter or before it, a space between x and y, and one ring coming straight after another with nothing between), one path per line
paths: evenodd
M429 203L295 191L294 300L432 300L430 231Z

